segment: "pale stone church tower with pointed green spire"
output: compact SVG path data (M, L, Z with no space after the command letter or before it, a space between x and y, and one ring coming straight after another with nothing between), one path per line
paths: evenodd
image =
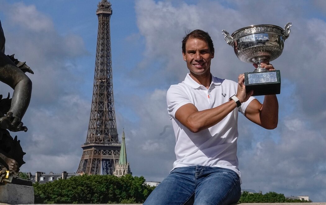
M125 130L122 132L122 142L121 142L119 162L116 164L113 174L117 177L121 177L126 174L132 174L130 172L129 163L127 162Z

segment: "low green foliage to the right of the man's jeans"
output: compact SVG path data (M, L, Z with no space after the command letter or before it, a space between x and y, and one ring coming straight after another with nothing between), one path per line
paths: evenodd
M284 194L269 192L266 194L249 193L244 191L238 203L285 203L285 202L308 202L300 199L287 199Z

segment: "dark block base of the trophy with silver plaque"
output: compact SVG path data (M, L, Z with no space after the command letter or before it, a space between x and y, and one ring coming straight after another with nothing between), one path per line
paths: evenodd
M246 91L254 90L252 96L274 95L281 93L279 70L244 73Z

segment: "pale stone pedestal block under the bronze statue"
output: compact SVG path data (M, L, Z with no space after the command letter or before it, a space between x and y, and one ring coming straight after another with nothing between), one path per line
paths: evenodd
M6 184L0 186L0 202L6 204L34 204L33 186Z

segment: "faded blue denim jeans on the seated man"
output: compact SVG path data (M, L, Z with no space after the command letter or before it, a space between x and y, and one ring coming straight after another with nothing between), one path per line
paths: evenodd
M230 169L205 166L174 169L143 205L229 205L239 201L240 178Z

